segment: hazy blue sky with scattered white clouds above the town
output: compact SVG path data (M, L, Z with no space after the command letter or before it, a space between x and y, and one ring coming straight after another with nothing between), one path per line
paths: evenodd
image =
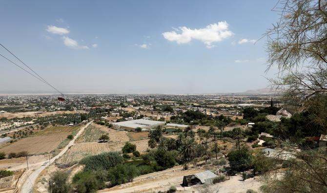
M63 93L244 92L276 76L262 38L276 3L5 0L0 43ZM1 57L0 67L2 93L56 93Z

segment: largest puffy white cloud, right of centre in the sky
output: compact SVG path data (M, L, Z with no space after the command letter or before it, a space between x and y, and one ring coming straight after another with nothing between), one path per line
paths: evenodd
M181 31L181 33L177 33ZM190 29L188 27L179 27L179 30L164 32L163 37L171 42L178 44L189 43L192 39L202 41L207 48L212 48L212 43L221 42L224 39L233 35L233 32L228 30L228 23L220 21L207 25L205 28Z

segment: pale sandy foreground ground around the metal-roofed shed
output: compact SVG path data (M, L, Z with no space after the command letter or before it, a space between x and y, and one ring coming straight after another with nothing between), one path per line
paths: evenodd
M182 166L176 166L161 172L149 173L136 177L133 182L115 186L110 189L99 191L100 193L143 193L143 192L158 192L167 191L170 186L175 186L179 192L184 193L200 193L203 190L203 185L194 185L191 187L182 187L183 176L197 172L203 172L204 168L191 168L187 171L182 170ZM245 193L246 190L252 189L258 191L261 182L257 178L249 178L242 181L240 175L231 176L229 180L218 184L210 185L209 190L212 193ZM182 191L184 190L184 191Z

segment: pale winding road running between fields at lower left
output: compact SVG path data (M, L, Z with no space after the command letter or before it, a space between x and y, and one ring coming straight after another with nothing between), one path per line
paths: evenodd
M75 142L75 140L82 134L84 129L89 126L92 122L86 124L80 131L75 135L74 139L69 142L69 144L61 150L61 152L50 159L50 162L53 163L57 158L59 158L61 155L63 155L67 150L69 146L72 146ZM20 193L32 193L33 186L35 184L36 178L39 176L39 174L49 165L49 164L42 164L43 162L40 162L39 167L36 167L35 170L28 175L28 177L25 179L25 182L23 183L22 187L20 188Z

